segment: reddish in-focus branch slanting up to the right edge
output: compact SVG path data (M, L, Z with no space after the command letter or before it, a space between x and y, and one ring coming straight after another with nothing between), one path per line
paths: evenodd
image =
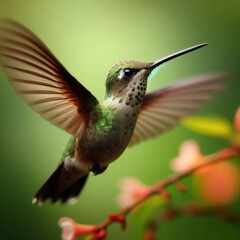
M213 164L216 164L220 161L227 160L227 159L230 159L232 157L239 156L239 155L240 155L240 149L239 148L229 147L229 148L225 148L223 150L220 150L220 151L218 151L218 152L216 152L212 155L205 156L205 158L204 158L205 161L200 162L200 163L192 166L191 168L186 169L186 170L184 170L180 173L173 174L173 175L167 177L166 179L158 182L153 187L147 187L145 189L145 191L143 191L144 193L142 194L142 196L139 199L137 199L136 201L134 201L132 204L130 204L129 206L126 206L125 208L123 208L121 211L119 211L116 214L109 215L109 217L105 221L103 221L102 223L100 223L98 225L95 225L95 227L92 227L92 231L89 232L89 231L82 230L82 234L78 233L78 236L84 235L86 233L92 233L93 235L90 238L88 238L89 240L104 239L106 237L107 228L114 222L120 223L121 226L122 226L122 229L124 229L126 227L126 217L127 217L127 215L130 212L132 212L134 209L136 209L137 207L142 205L144 202L146 202L152 196L161 194L162 196L165 196L165 198L167 198L166 195L168 194L168 192L167 192L166 188L168 188L170 185L173 185L173 184L176 184L177 188L180 191L184 191L185 188L180 183L181 179L183 179L187 176L190 176L191 174L193 174L193 173L195 173L195 172L197 172L201 169L204 169L205 167L209 167L209 166L211 166ZM65 225L64 225L62 220L60 220L60 221L62 223L61 227L63 227L63 229L64 229ZM79 224L76 223L76 225L79 225ZM81 229L82 229L82 226L85 226L85 225L80 225L80 226L81 226ZM88 225L86 225L86 227L87 226ZM75 228L75 229L76 229L75 231L79 230L78 228ZM65 233L65 235L67 235L66 232L64 232L64 233ZM75 234L73 236L74 236L74 238L64 238L63 237L63 239L64 240L73 240L73 239L75 239L75 237L77 235Z

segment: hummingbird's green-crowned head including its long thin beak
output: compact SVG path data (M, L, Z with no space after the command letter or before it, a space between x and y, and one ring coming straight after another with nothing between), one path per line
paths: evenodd
M107 76L106 97L119 98L120 101L125 100L130 104L135 99L134 104L139 104L144 98L147 79L153 69L173 58L206 45L206 43L199 44L150 63L129 60L116 64Z

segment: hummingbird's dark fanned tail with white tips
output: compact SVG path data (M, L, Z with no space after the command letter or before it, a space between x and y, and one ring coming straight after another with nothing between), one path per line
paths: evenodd
M33 204L37 202L43 203L47 199L51 199L52 202L58 200L62 203L66 202L69 198L79 195L85 185L87 177L88 173L84 173L81 176L79 172L75 174L67 172L64 169L63 162L38 190L33 199Z

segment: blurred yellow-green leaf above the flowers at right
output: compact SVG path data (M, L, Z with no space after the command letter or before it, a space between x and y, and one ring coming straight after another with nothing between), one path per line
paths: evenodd
M232 137L232 126L220 117L185 117L181 120L183 126L200 134L220 137L229 140Z

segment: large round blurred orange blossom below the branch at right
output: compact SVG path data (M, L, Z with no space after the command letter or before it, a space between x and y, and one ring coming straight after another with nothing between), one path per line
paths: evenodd
M210 205L229 204L239 195L240 172L230 162L216 163L198 177L201 195Z

